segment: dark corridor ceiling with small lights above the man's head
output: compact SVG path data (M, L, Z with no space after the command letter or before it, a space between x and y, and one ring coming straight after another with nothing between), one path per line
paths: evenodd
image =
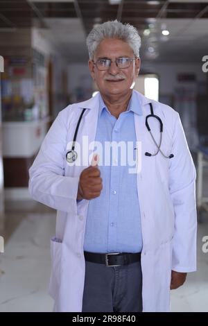
M208 0L0 0L0 31L37 26L70 61L87 59L87 33L111 19L137 27L143 60L193 62L208 54Z

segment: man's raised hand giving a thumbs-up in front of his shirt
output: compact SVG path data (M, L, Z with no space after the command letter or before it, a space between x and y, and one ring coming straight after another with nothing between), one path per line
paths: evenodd
M101 194L103 183L98 169L98 155L92 159L92 165L80 174L77 199L93 199Z

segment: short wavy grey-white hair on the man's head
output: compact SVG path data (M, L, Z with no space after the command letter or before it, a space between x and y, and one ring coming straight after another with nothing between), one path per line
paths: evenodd
M90 60L93 59L94 51L96 51L98 44L105 38L115 38L128 43L134 51L135 56L139 58L141 37L139 36L137 28L130 24L122 24L114 20L100 24L92 28L92 31L89 32L87 36L87 48Z

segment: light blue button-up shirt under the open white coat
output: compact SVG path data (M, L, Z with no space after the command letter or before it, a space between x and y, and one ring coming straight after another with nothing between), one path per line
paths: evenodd
M100 96L96 141L105 148L105 141L133 141L132 155L136 158L136 114L141 107L134 92L128 108L116 119L105 107ZM96 153L99 153L98 151ZM137 173L129 173L129 168L122 166L121 151L118 151L118 163L110 151L108 166L104 165L106 151L103 149L103 166L99 163L103 189L101 195L89 200L85 228L84 250L89 252L141 252L141 216L137 195ZM125 155L127 157L127 155ZM112 162L114 160L114 162ZM127 160L128 162L128 160ZM130 163L132 164L132 163ZM117 166L116 166L117 165Z

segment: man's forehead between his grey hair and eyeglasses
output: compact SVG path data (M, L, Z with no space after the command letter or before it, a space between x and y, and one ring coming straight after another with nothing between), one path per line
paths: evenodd
M128 43L117 40L117 39L104 39L98 44L97 49L94 53L96 58L107 57L116 58L119 56L130 56L133 55L134 51L128 45Z

